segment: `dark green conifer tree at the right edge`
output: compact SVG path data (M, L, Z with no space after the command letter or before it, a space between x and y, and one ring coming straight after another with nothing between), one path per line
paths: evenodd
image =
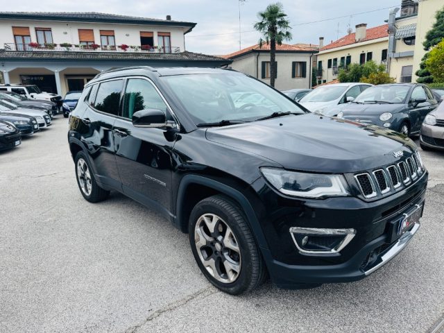
M441 40L444 38L444 8L438 10L435 17L436 21L434 25L429 31L427 31L425 40L422 42L422 46L424 46L425 51L430 51L430 49L441 42ZM426 65L428 56L429 53L425 53L420 63L420 69L418 69L418 71L415 73L416 76L418 76L418 79L416 80L418 83L432 83L434 80L434 77Z

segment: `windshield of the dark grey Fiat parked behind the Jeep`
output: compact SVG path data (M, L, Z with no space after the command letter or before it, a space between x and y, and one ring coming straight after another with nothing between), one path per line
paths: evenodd
M369 87L355 99L356 103L386 102L400 104L404 101L410 87L406 85L379 85Z

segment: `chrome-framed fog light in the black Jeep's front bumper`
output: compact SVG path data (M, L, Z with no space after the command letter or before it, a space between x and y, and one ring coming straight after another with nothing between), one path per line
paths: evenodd
M355 237L355 229L290 228L291 237L300 253L339 253Z

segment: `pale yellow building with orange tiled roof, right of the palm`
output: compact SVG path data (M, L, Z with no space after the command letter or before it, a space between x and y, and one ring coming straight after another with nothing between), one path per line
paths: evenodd
M358 24L355 33L348 33L339 40L323 46L323 37L319 38L317 80L318 84L335 80L339 69L352 62L364 64L369 60L386 63L388 49L388 25L367 28L367 24Z

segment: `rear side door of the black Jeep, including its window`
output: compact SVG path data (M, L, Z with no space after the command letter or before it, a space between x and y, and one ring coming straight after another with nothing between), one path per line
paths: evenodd
M119 190L121 182L114 155L112 126L119 114L122 89L123 79L96 84L80 117L83 123L80 140L87 147L96 180Z

